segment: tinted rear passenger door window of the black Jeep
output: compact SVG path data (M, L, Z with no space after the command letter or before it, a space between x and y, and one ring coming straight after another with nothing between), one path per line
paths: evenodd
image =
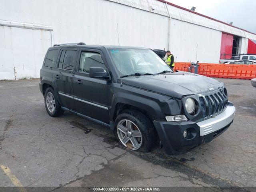
M62 50L58 68L73 70L76 60L76 50Z

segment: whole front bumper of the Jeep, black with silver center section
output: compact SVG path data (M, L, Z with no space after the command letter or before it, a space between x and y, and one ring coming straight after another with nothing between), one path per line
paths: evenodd
M226 110L217 116L201 121L158 122L154 126L166 153L176 155L187 152L201 144L205 144L222 134L232 124L236 108L229 103ZM183 132L191 132L184 138Z

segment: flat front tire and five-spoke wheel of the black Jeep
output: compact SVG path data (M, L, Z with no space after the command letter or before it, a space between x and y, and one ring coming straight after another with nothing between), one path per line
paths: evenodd
M136 110L124 110L116 117L114 127L114 134L121 146L142 152L148 152L152 149L155 129L142 113Z

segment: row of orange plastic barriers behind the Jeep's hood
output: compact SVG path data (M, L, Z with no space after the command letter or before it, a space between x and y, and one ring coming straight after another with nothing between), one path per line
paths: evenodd
M174 70L188 71L189 66L188 62L176 62ZM256 65L199 63L198 74L217 78L253 79L256 78Z

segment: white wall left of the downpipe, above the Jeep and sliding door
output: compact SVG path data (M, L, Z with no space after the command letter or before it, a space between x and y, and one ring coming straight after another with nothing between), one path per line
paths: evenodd
M0 20L52 26L53 43L166 48L168 18L107 0L0 1ZM159 30L160 29L160 30Z

